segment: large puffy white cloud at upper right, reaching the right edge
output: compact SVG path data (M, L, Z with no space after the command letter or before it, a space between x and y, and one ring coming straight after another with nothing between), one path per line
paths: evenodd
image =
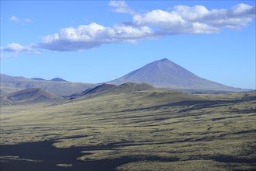
M133 16L138 26L156 26L162 34L216 33L223 28L239 29L255 16L255 7L238 4L232 9L206 9L205 6L177 5L170 11L155 9Z

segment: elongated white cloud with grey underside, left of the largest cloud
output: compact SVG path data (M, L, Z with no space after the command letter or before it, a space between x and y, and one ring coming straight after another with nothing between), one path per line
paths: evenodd
M43 37L39 47L51 51L79 51L110 43L136 43L153 35L148 26L116 25L113 28L96 23L68 27Z

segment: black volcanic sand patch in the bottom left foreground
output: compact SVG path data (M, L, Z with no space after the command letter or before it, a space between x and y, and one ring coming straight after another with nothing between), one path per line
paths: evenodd
M79 161L77 157L85 155L82 147L55 148L53 141L31 142L19 145L0 145L1 156L19 156L19 159L41 160L42 162L29 162L23 160L2 159L9 162L0 162L1 171L49 171L49 170L114 170L124 163L134 162L138 159L103 159L97 161ZM60 167L57 164L72 164L70 167Z

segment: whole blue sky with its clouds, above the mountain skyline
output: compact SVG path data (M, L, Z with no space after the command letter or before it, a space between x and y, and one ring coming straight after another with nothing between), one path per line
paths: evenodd
M98 83L168 58L255 89L255 1L1 1L1 73Z

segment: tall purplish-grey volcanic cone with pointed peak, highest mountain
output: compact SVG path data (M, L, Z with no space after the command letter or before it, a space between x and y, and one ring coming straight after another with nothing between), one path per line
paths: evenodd
M119 79L114 79L107 83L120 85L124 82L146 82L156 87L170 89L242 91L242 89L236 89L202 79L167 58L153 61Z

